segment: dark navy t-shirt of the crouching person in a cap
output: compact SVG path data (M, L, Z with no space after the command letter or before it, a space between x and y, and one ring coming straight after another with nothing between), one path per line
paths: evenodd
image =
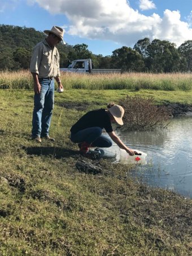
M101 127L106 132L112 132L110 116L105 109L92 110L82 116L77 123L71 127L71 133L76 133L89 127Z

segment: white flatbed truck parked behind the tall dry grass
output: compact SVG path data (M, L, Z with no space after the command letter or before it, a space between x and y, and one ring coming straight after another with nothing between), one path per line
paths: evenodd
M76 59L67 68L60 68L62 72L76 72L76 73L121 73L121 69L96 69L93 68L91 59Z

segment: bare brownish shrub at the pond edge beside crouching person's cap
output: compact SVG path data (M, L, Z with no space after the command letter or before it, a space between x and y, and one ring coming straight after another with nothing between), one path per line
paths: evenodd
M119 104L125 109L123 120L126 130L152 131L168 125L169 111L164 106L155 106L152 97L126 96Z

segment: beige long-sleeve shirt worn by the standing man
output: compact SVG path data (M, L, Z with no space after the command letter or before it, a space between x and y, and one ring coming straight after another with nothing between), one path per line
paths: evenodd
M30 60L30 72L37 73L39 78L60 76L58 49L51 48L46 40L34 46Z

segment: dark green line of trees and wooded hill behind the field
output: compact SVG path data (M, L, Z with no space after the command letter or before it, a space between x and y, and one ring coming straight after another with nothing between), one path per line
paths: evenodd
M0 25L0 70L27 70L33 47L45 38L45 34L34 28ZM122 68L126 72L191 72L192 40L179 47L165 40L143 38L133 48L123 46L112 55L95 55L88 45L57 46L60 67L67 67L74 59L91 58L94 68Z

